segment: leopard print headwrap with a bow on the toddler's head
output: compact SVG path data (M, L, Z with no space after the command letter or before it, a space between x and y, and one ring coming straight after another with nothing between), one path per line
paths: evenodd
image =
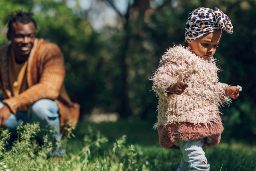
M215 7L213 11L210 8L200 7L188 15L188 21L185 28L185 39L195 40L205 34L221 29L232 34L233 26L227 15Z

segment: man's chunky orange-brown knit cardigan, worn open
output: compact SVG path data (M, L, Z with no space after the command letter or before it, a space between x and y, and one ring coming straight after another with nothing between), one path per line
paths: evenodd
M27 83L29 88L16 97L12 97L8 57L10 45L0 48L0 88L4 94L3 103L7 104L16 114L17 109L24 105L31 105L40 99L54 100L59 106L60 123L68 121L76 125L79 118L80 106L73 103L63 84L65 67L63 54L54 43L47 43L43 39L35 39L29 54L27 65Z

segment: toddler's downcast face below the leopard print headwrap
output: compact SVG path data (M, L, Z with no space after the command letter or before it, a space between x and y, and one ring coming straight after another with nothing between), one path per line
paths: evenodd
M197 56L207 60L215 54L220 38L221 30L218 29L196 40L188 40L188 46L191 47Z

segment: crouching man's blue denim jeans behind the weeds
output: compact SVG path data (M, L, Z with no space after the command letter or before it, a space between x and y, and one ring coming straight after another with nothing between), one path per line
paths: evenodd
M0 109L4 104L0 101ZM9 128L12 135L17 134L16 127L23 121L24 123L39 122L41 130L50 128L53 132L54 138L57 141L61 141L60 134L60 119L59 119L59 107L57 103L49 99L41 99L32 104L28 112L17 111L16 114L11 114L6 120L4 127ZM41 131L39 139L42 139L46 131ZM64 155L64 151L61 146L58 150L53 150L53 156Z

